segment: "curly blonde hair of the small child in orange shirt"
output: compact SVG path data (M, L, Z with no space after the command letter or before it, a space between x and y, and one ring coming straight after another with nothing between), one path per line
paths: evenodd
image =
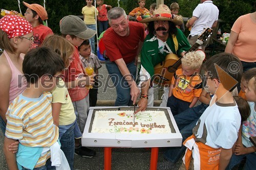
M191 69L196 70L201 67L204 60L204 56L202 56L198 52L188 52L181 59L181 63L183 65L190 66Z

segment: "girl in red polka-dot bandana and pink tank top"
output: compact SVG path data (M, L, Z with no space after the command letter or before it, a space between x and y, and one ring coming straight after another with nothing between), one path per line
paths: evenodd
M16 15L0 19L0 48L4 49L0 56L0 127L4 134L8 106L27 85L22 63L33 39L33 28L26 19Z

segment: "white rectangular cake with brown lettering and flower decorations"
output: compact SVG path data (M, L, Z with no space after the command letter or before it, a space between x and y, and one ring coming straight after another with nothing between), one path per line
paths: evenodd
M143 111L135 114L130 110L96 111L91 133L155 134L171 133L164 111Z

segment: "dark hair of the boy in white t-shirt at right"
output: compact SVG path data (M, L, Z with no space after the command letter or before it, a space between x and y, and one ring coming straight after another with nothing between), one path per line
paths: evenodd
M230 82L228 79L225 79L225 75L218 75L216 70L216 65L218 65L222 70L224 70L228 75L230 75L234 80L240 82L243 74L243 65L237 56L234 56L230 53L220 53L210 57L204 63L204 69L207 71L208 76L211 79L219 79L223 76L222 80L226 80L225 82L221 82L226 90L230 92L237 87L238 83L234 85L231 89L227 89L229 87Z

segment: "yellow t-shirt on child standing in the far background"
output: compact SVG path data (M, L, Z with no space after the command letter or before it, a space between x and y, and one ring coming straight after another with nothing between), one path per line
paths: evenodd
M92 7L83 7L82 8L82 14L84 15L83 17L83 21L86 23L86 24L96 24L96 18L95 18L95 7L92 6ZM99 12L96 8L96 15L98 16L99 15Z

